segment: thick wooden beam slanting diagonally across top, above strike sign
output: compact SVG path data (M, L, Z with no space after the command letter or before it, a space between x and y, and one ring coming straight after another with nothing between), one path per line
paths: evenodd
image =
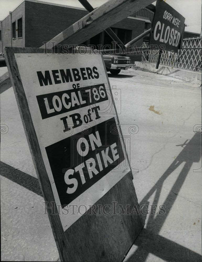
M79 45L153 1L110 0L55 36L42 48L52 48L58 44Z

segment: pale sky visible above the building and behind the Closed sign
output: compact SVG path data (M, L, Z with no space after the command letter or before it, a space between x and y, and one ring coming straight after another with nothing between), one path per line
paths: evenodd
M40 0L64 4L68 6L83 7L78 0ZM185 31L200 33L201 32L201 2L202 0L165 0L177 12L185 17ZM0 20L3 20L9 11L13 11L23 0L0 0ZM89 0L92 7L98 7L107 0ZM155 4L154 2L153 4Z

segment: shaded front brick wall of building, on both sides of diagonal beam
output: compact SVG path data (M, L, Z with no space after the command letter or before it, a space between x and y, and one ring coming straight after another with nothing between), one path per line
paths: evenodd
M88 14L86 10L25 1L25 47L42 46L43 42L51 40L86 14ZM126 18L112 27L132 30L133 39L144 32L144 25L144 21ZM103 42L104 34L102 32L102 45ZM142 40L136 45L141 46ZM133 61L141 61L141 55L133 55L131 59Z

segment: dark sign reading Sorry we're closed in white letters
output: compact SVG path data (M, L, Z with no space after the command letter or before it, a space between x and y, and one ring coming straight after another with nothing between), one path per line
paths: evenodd
M178 52L184 32L185 18L166 2L158 0L152 21L149 45Z

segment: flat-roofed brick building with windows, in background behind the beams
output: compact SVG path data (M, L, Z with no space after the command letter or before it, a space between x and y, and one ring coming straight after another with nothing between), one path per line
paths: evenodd
M143 8L111 27L124 44L150 28L154 15L151 7ZM0 52L5 46L40 47L86 14L88 11L84 8L25 0L0 21ZM111 45L111 41L111 37L103 31L84 44L95 45L99 49L100 46ZM140 40L136 45L141 46L142 42ZM132 60L141 60L141 55L132 56Z

